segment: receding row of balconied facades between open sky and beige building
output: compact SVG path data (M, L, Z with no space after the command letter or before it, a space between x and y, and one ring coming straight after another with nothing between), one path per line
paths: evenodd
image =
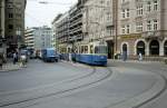
M69 11L57 16L52 22L57 48L60 52L72 52L76 42L84 39L82 9L87 0L78 0Z

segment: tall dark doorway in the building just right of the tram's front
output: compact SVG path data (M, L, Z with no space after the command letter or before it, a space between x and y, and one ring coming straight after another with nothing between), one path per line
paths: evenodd
M108 59L114 59L114 42L111 40L107 41L108 46Z

